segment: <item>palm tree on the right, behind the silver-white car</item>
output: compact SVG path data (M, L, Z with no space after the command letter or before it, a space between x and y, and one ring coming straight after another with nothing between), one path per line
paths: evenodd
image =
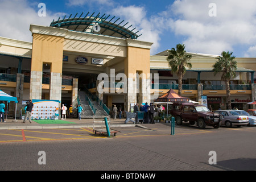
M236 70L237 70L237 61L235 61L235 56L232 56L233 52L222 52L222 56L216 57L217 61L213 65L213 72L214 76L217 73L222 72L221 80L225 81L226 85L226 98L228 100L228 109L231 108L231 96L230 96L230 87L229 81L231 78L236 77Z

